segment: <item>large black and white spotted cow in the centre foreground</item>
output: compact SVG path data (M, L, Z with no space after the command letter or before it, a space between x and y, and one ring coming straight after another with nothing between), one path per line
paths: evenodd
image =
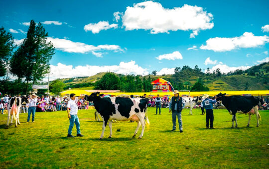
M148 118L146 122L144 120L145 114L147 116L147 100L144 98L123 98L123 97L105 97L101 98L103 94L100 92L92 93L91 95L85 95L87 101L93 101L94 107L103 118L103 132L100 139L104 137L104 132L109 122L110 136L112 137L112 120L119 121L136 121L137 127L134 131L136 136L140 125L142 125L142 131L138 139L143 137L145 123L149 124Z

